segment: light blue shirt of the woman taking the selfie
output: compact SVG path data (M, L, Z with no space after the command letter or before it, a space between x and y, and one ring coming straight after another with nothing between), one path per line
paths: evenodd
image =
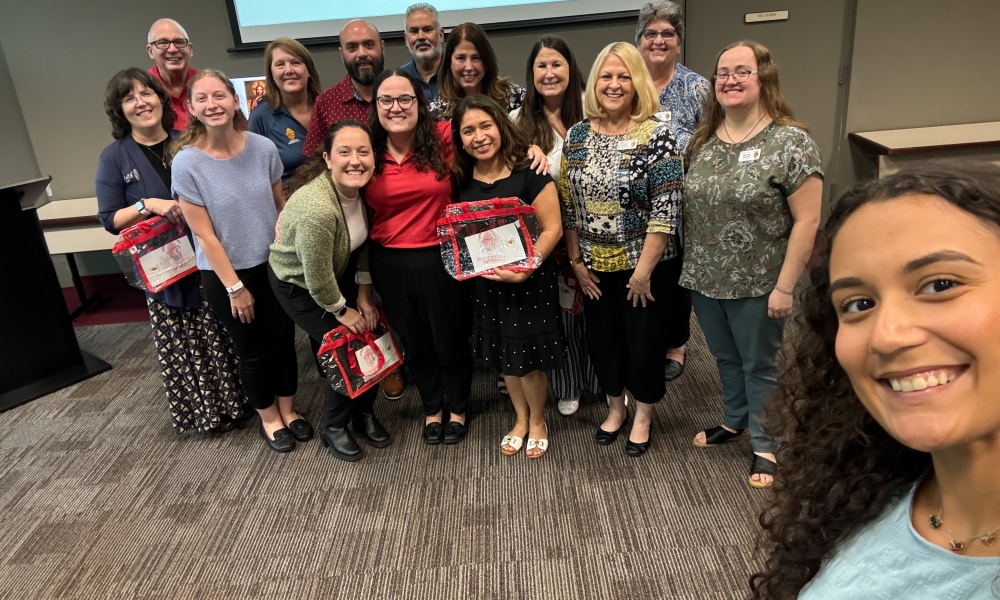
M844 542L802 588L799 600L1000 598L1000 582L995 583L1000 558L955 554L928 542L913 528L910 509L915 489Z

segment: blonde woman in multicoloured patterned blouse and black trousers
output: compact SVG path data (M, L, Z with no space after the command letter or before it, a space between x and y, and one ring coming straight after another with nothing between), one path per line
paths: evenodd
M563 231L570 265L586 297L587 351L608 393L596 441L615 441L625 423L625 390L636 400L626 444L649 448L663 368L668 296L680 275L683 166L639 51L613 43L587 80L584 113L563 147Z

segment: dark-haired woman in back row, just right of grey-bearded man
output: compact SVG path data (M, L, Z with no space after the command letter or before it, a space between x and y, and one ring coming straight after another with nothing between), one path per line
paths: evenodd
M462 23L448 33L438 73L438 95L433 114L450 119L458 102L472 94L489 96L507 112L524 102L524 88L500 77L500 65L486 32L475 23Z

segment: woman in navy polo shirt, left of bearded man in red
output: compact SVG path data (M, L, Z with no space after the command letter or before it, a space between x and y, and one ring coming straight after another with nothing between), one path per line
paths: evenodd
M312 107L323 92L312 55L291 38L278 38L264 51L267 90L250 112L247 131L274 142L281 156L281 181L306 161L302 144L306 139Z

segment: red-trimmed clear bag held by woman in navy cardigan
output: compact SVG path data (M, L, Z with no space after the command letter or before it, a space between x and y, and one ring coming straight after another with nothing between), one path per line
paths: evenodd
M147 292L159 292L198 270L184 226L161 216L123 229L111 252L125 280Z

